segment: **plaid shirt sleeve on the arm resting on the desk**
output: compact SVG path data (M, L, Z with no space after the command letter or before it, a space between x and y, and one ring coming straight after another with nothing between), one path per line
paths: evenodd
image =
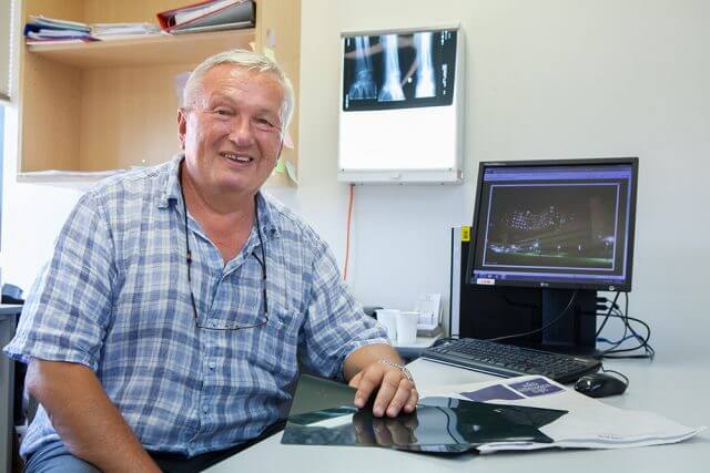
M363 312L331 250L320 241L300 340L301 361L321 376L342 379L345 358L373 343L388 343L384 327Z

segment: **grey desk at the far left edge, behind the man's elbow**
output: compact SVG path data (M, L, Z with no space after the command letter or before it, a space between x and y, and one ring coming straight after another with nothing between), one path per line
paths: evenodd
M22 306L0 305L0 349L12 339L16 319L21 311ZM0 353L0 472L9 472L12 467L13 387L14 363Z

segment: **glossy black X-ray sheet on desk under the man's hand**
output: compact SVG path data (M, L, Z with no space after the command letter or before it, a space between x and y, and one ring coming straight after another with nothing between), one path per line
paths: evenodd
M328 391L333 390L335 399ZM346 393L349 391L349 395ZM412 414L376 418L372 405L352 404L355 390L344 384L303 376L294 397L282 443L297 445L383 446L413 452L456 454L490 442L552 440L539 428L567 411L488 404L453 398L424 398ZM304 397L304 399L298 399ZM334 405L334 400L349 403ZM322 403L324 409L304 411Z

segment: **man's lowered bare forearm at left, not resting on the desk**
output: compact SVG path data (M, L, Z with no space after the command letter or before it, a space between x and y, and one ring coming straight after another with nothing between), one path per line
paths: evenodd
M102 471L160 471L87 367L32 359L27 387L73 455Z

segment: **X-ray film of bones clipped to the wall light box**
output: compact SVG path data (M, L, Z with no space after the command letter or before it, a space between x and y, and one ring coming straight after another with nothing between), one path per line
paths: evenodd
M343 39L343 111L450 105L456 31Z

